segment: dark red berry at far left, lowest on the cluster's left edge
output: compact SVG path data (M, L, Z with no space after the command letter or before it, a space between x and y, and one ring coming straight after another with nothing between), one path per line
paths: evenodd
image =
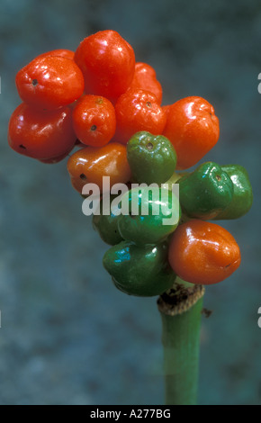
M67 154L76 142L72 112L68 107L40 112L22 103L10 118L8 142L28 157L49 160Z

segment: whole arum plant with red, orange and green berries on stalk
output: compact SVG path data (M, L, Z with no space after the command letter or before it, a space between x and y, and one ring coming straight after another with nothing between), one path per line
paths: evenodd
M199 96L162 105L154 68L112 30L76 51L40 54L15 83L22 103L9 121L10 147L40 166L67 158L72 186L87 205L95 200L112 283L158 297L166 404L196 404L205 285L224 281L241 259L235 238L210 220L238 219L253 200L243 166L190 170L219 139L213 106Z

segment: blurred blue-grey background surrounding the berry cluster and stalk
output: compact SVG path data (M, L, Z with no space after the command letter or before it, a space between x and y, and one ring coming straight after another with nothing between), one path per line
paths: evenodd
M234 235L242 265L211 286L202 319L201 404L261 404L261 4L181 0L1 0L0 403L163 404L156 298L128 297L103 270L107 246L56 166L18 156L7 125L16 72L49 49L119 31L157 70L164 103L201 95L220 118L204 160L246 166L255 202Z

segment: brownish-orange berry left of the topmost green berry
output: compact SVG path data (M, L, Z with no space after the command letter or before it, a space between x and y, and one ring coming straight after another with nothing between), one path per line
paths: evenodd
M71 183L82 193L87 183L97 184L103 191L103 176L110 176L112 184L126 184L130 180L130 166L126 147L110 142L103 147L80 148L67 161Z

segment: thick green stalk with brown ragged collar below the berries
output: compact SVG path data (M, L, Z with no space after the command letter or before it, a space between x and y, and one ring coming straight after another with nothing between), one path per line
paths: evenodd
M197 403L204 288L176 280L157 301L162 319L166 405Z

